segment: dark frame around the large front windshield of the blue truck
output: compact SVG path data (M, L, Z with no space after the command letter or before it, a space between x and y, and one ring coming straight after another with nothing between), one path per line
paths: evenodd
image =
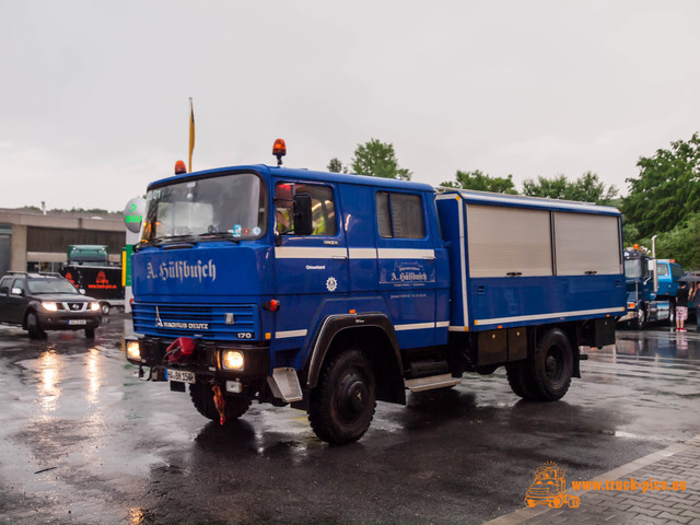
M243 234L236 235L235 234L236 232L232 228L232 230L224 231L224 232L211 232L211 233L202 232L197 234L170 235L170 236L149 235L150 238L145 237L147 235L145 230L150 228L150 224L152 222L152 219L150 219L152 200L149 198L152 191L162 189L162 188L173 187L173 186L187 185L189 183L197 183L197 182L208 180L208 179L225 179L228 177L241 176L241 175L253 175L257 177L259 182L260 196L257 205L258 207L257 213L258 215L260 215L261 213L261 217L258 217L258 224L256 225L257 228L260 229L259 234L257 235L253 234L253 231L250 231L248 235L243 235ZM149 245L149 244L161 245L161 244L167 244L172 242L199 243L199 242L220 241L220 240L233 241L237 243L241 241L256 241L265 237L268 233L268 222L269 222L269 213L270 213L269 186L266 178L255 170L250 170L250 168L218 170L215 172L209 172L205 174L187 174L187 176L183 175L178 177L171 177L171 178L149 185L147 191L148 192L147 192L145 211L143 214L144 220L141 224L138 245L141 245L141 246ZM262 211L260 212L260 210ZM214 211L215 210L212 207L212 212Z

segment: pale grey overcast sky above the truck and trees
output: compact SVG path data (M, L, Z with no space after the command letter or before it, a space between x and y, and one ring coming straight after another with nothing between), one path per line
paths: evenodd
M122 210L194 170L349 163L413 180L586 171L700 130L700 2L0 0L0 207Z

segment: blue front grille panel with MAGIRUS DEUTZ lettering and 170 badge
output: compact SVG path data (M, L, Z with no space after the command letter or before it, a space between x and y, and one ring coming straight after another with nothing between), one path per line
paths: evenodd
M252 304L133 303L133 329L148 336L249 341L259 339L259 318Z

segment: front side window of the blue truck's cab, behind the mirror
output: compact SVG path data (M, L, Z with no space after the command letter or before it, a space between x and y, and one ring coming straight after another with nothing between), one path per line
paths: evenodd
M312 235L337 235L338 225L332 188L315 184L279 183L277 185L275 189L277 231L282 235L294 235L292 203L293 196L299 194L306 194L311 197Z

